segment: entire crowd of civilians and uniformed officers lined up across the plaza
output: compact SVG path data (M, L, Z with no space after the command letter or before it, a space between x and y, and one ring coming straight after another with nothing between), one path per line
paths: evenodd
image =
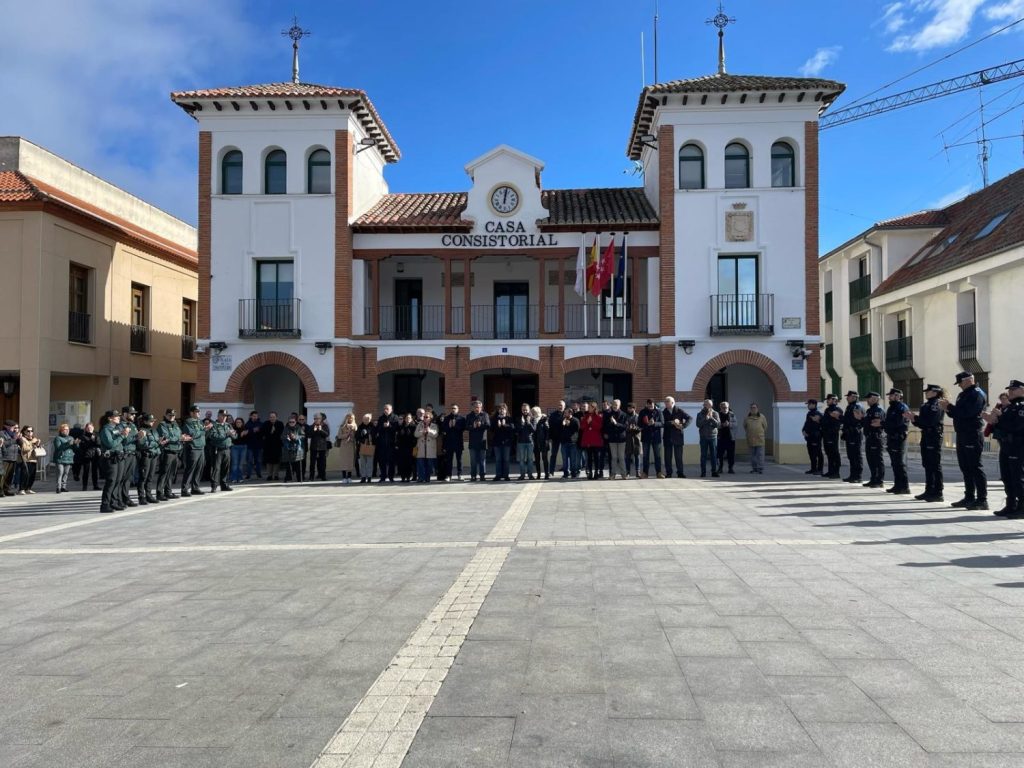
M949 416L965 483L964 498L952 506L988 509L982 454L985 437L992 436L999 444L999 474L1007 495L995 514L1024 517L1024 383L1011 381L991 410L970 373L957 374L956 383L961 392L955 401L946 398L941 386L928 385L916 414L903 402L899 389L889 391L886 409L878 392L865 395L866 409L855 391L846 393L845 409L835 394L826 396L823 411L817 400L809 399L803 426L810 460L807 473L881 488L888 455L893 483L886 490L909 495L907 437L913 425L921 431L925 471L924 493L915 498L942 502L943 428ZM204 482L210 493L218 493L251 480L323 481L332 450L340 454L343 484L502 482L511 481L513 471L518 472L516 480L686 477L684 431L691 424L697 432L701 477L735 472L740 424L750 472L764 471L768 422L757 403L751 403L741 420L728 402L716 407L710 399L693 418L673 397L660 403L647 399L640 409L633 402L624 409L617 399L560 400L548 413L523 404L516 414L505 404L488 414L476 398L465 415L458 404L446 414L436 414L428 404L402 415L387 404L376 418L348 414L333 437L324 414L309 422L299 413L282 420L271 412L264 420L257 411L248 420L223 410L215 417L207 412L200 418L200 408L193 406L180 422L168 409L158 423L153 414L139 414L129 406L108 411L98 429L91 423L75 428L61 424L52 440L52 457L47 457L47 446L31 426L19 428L7 421L0 432L2 489L5 496L36 493L37 467L48 458L56 467L57 494L68 493L72 482L81 482L83 490L90 483L99 489L102 477L99 511L114 512L202 495ZM841 474L841 442L846 447L846 477ZM494 468L489 474L488 466Z

